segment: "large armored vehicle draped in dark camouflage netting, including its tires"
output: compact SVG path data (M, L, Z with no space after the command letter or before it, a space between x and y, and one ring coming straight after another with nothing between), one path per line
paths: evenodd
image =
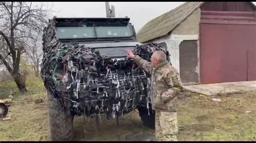
M41 76L49 98L52 140L72 140L73 117L120 117L138 109L154 128L150 75L127 59L127 49L149 60L157 44L140 44L130 18L57 18L43 35ZM166 55L169 53L167 51Z

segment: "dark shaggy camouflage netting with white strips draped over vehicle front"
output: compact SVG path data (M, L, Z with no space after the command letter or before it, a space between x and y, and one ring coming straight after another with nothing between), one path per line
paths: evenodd
M136 45L133 52L150 61L156 44ZM86 45L65 45L56 36L51 21L43 35L41 76L50 94L64 107L90 115L107 111L115 118L133 108L142 98L150 104L150 77L132 60L112 60ZM167 51L166 55L169 55Z

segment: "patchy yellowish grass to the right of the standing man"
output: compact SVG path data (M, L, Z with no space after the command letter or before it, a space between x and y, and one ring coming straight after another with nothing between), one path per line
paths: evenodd
M255 96L256 93L205 98L196 95L185 99L178 113L182 128L179 140L255 140ZM212 98L220 98L221 102Z

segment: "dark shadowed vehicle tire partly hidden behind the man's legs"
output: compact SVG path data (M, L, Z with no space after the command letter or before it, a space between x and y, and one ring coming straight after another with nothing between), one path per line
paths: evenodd
M150 108L150 115L146 107L139 106L138 111L143 125L151 129L155 129L156 113L152 110L152 108Z

